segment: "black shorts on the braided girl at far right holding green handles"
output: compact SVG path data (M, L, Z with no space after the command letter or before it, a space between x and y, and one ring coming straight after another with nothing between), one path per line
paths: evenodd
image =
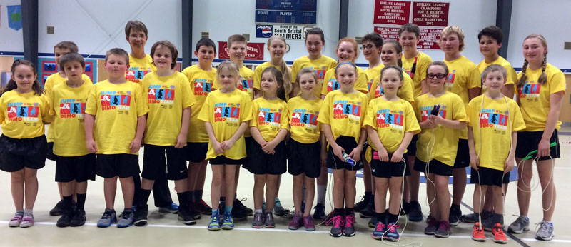
M541 137L543 136L543 131L522 131L517 132L517 146L515 147L515 158L524 158L527 153L537 150L537 146L540 144ZM550 148L549 154L551 158L561 157L561 147L559 143L559 135L557 130L553 131L551 138L549 138L549 143L557 143L556 146ZM532 155L531 159L537 157L537 153ZM550 159L549 156L543 156L539 158L540 161L545 161Z

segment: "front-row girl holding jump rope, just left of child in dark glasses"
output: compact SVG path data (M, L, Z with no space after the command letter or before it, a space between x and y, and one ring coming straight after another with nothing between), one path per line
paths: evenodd
M410 174L405 166L406 148L413 135L420 132L413 106L398 97L404 75L400 66L389 65L381 71L380 84L385 94L369 102L365 122L369 145L373 150L366 154L375 177L375 218L373 238L383 236L390 241L400 238L396 226L400 210L400 186L404 176ZM385 212L387 190L390 191L388 212ZM386 232L386 233L385 233Z

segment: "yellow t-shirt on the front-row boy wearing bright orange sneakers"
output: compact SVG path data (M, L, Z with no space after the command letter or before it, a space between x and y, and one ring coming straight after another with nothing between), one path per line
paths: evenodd
M480 167L503 171L510 154L512 132L525 129L520 106L509 97L490 99L484 94L468 103L466 115L468 126L472 126Z

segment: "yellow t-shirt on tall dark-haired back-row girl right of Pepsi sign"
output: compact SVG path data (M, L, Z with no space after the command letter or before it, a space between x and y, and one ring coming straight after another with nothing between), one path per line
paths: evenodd
M315 86L315 97L321 98L321 86L323 86L323 79L325 78L325 72L328 69L335 68L337 66L337 61L328 56L321 56L319 59L311 60L308 56L302 56L299 59L293 61L293 66L291 66L291 80L295 81L298 77L298 73L303 68L312 69L317 74L317 86Z

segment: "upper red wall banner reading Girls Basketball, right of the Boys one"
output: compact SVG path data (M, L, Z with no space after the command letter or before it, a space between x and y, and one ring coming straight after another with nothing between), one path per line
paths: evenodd
M448 26L450 3L415 1L413 3L413 24L418 26Z

